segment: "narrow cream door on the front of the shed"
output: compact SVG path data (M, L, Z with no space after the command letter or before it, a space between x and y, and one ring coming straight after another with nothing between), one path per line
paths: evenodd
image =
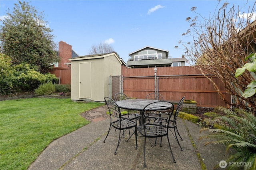
M91 62L79 63L79 98L92 98Z

